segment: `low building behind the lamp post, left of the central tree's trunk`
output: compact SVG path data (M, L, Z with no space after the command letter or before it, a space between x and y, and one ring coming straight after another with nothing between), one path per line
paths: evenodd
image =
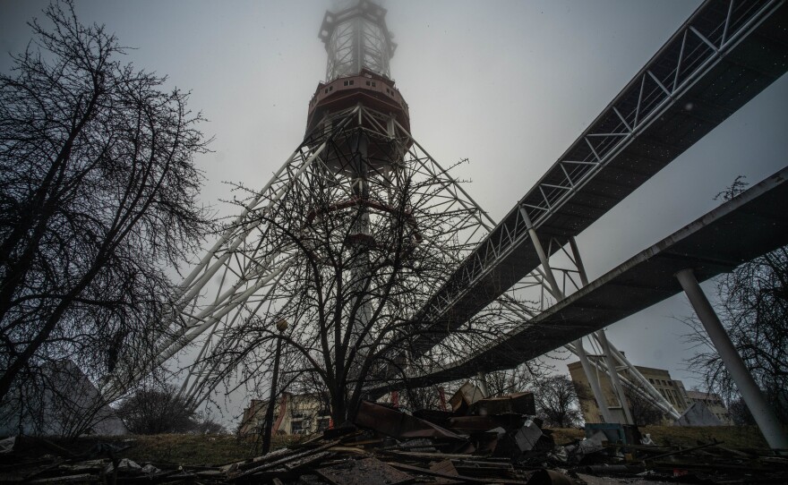
M275 406L271 427L273 434L312 434L329 428L330 411L318 396L285 392L278 398ZM253 399L244 409L238 433L242 437L261 433L267 408L267 400Z

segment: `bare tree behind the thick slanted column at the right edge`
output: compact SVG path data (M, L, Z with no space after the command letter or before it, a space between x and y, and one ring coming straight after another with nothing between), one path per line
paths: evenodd
M730 200L744 190L737 177L717 198ZM788 423L788 247L742 264L716 282L715 311L758 387ZM683 321L696 349L690 370L706 381L709 392L735 402L738 391L697 318Z

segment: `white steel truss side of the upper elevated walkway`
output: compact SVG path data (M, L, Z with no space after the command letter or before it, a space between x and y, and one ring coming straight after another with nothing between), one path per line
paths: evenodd
M677 99L702 80L733 47L783 6L783 0L731 0L708 2L699 8L479 243L419 319L440 321L477 282L527 242L531 228L538 231L545 225L638 135L658 123ZM565 246L569 239L551 241L549 250ZM458 325L461 323L457 321ZM425 351L429 345L424 347Z

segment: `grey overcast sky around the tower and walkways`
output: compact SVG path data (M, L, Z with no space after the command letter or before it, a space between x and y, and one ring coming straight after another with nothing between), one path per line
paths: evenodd
M0 69L24 49L25 25L47 2L0 0ZM325 72L318 30L329 1L78 0L128 60L191 89L216 140L200 157L205 204L231 208L223 182L262 186L304 136ZM398 50L391 73L412 132L495 220L577 139L700 4L687 0L390 0ZM739 174L757 183L786 165L788 79L778 80L578 238L591 279L703 215ZM704 285L707 293L712 285ZM679 295L609 328L635 364L684 369L690 312ZM561 368L565 371L565 368Z

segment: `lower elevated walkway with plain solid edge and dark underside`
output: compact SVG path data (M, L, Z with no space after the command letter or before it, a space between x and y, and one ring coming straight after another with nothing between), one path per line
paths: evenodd
M478 371L516 367L681 292L674 274L692 268L705 281L788 243L788 168L715 208L488 345L428 375L424 387ZM397 387L397 383L393 386ZM389 388L371 386L372 394Z

